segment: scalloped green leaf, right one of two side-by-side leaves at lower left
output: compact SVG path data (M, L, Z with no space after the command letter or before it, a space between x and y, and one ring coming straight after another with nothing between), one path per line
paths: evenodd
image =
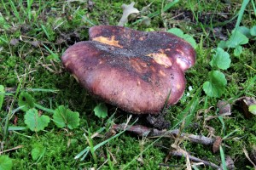
M53 115L53 121L57 127L68 127L70 129L79 127L79 112L73 112L64 105L60 105Z

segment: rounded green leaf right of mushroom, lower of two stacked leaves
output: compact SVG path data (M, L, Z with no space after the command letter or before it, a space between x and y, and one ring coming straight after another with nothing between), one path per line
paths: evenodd
M209 81L204 82L203 90L209 97L218 98L224 93L227 80L220 71L210 71L208 73Z

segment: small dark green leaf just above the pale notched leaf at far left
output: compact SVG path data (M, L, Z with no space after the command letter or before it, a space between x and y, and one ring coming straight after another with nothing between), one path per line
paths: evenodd
M22 107L22 111L28 111L35 107L34 100L35 99L33 99L27 92L21 92L18 99L18 105Z

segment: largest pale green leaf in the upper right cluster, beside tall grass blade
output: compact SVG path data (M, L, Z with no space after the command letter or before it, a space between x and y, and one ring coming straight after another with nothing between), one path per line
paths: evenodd
M226 42L228 48L236 48L239 45L246 44L249 39L240 31L232 31L230 39Z

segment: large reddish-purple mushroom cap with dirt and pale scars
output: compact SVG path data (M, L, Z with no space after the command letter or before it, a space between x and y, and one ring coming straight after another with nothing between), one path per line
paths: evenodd
M61 60L90 94L124 111L155 115L182 97L184 71L195 64L188 42L164 31L122 26L93 26L89 35Z

